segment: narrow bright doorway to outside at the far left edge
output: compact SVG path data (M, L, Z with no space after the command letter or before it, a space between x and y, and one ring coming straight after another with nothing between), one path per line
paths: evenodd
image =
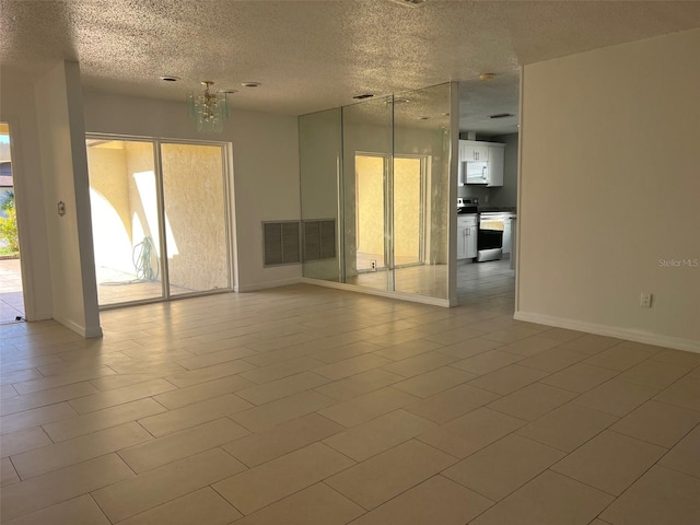
M10 125L0 122L0 324L24 319Z

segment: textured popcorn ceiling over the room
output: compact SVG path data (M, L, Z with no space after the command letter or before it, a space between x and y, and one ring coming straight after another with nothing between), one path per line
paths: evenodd
M213 80L234 108L290 115L458 81L460 128L497 132L515 130L488 115L517 114L518 66L700 26L699 1L401 1L0 0L0 63L73 59L88 90L165 100Z

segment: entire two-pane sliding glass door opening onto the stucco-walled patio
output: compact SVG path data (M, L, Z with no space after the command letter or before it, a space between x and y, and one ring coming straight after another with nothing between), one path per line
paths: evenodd
M101 306L231 288L223 144L86 145Z

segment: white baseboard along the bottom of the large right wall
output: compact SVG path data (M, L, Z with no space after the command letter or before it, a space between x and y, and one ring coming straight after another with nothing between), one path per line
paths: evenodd
M556 317L552 315L535 314L532 312L515 312L513 318L525 320L528 323L537 323L540 325L555 326L557 328L568 328L570 330L585 331L597 336L616 337L628 341L643 342L645 345L654 345L657 347L673 348L676 350L686 350L688 352L700 353L700 341L692 339L682 339L680 337L664 336L653 334L651 331L638 330L633 328L621 328L618 326L599 325L596 323L586 323L583 320L568 319L564 317Z

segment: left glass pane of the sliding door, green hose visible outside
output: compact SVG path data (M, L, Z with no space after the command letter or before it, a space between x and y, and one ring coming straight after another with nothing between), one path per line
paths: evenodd
M101 306L163 296L154 143L88 139Z

